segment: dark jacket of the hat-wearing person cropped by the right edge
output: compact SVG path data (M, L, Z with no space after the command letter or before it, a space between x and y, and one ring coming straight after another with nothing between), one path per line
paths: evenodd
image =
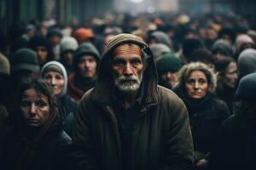
M246 120L244 113L238 105L223 123L218 150L212 153L212 170L256 169L256 122Z

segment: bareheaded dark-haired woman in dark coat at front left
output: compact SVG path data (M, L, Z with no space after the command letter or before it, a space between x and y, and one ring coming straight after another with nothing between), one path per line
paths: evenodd
M0 153L1 169L65 169L65 148L71 139L62 128L62 115L47 82L20 86L19 111Z

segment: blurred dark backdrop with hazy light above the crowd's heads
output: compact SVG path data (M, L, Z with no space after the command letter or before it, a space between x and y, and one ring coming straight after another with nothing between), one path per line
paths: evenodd
M254 0L0 0L0 29L15 21L83 23L109 14L255 14Z

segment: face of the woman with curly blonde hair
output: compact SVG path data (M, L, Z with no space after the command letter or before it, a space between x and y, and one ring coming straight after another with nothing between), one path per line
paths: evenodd
M185 82L186 94L190 99L202 99L207 94L207 77L202 71L192 71Z

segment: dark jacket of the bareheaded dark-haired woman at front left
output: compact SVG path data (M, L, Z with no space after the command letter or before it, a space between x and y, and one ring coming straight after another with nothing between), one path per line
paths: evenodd
M66 147L71 144L70 137L61 129L62 118L57 116L55 122L49 127L44 137L38 144L29 144L34 147L34 158L32 163L27 164L22 161L17 167L17 159L22 153L26 153L28 144L25 144L20 138L17 127L4 140L4 149L0 153L1 169L5 170L65 170L67 167ZM25 160L26 161L26 160ZM25 167L23 167L25 166Z

